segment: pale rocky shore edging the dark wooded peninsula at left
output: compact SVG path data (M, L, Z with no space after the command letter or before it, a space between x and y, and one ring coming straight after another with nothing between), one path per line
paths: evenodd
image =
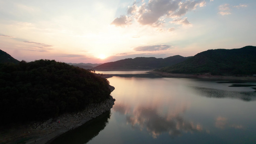
M113 91L114 87L110 86ZM83 111L63 114L57 118L25 125L12 125L8 130L0 130L0 144L47 144L58 135L83 125L104 112L109 111L115 99L90 104Z

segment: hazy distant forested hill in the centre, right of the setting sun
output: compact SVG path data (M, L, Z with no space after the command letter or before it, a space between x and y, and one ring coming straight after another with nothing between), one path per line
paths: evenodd
M122 70L122 69L159 69L166 66L171 66L173 64L182 62L189 57L182 57L179 55L168 57L165 59L162 58L145 58L145 57L138 57L134 59L124 59L118 60L114 62L107 62L103 63L97 67L95 70Z

